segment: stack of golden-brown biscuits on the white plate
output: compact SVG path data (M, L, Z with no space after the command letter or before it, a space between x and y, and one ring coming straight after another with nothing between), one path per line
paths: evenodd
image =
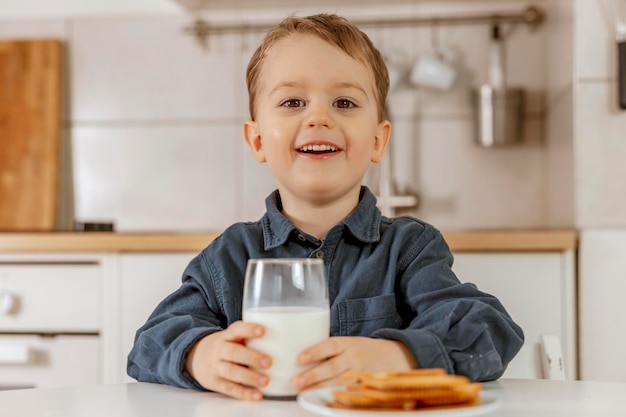
M328 406L358 410L415 410L479 404L481 385L443 369L405 372L355 372L344 377L345 389L333 391Z

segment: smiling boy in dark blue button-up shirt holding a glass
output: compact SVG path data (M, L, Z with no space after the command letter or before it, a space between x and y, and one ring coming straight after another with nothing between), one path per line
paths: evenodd
M389 77L369 38L336 15L289 17L253 55L247 82L244 137L278 190L261 220L231 226L192 260L181 287L137 331L129 375L261 399L272 358L245 345L264 332L241 321L247 260L318 257L331 337L301 353L303 364L319 364L294 378L299 389L361 370L500 377L522 330L495 297L459 282L439 231L382 217L361 185L391 129Z

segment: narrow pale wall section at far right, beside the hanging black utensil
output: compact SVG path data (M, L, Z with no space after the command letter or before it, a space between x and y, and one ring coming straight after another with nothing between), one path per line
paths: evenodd
M607 2L575 4L576 224L626 227L626 111L617 106L613 20Z

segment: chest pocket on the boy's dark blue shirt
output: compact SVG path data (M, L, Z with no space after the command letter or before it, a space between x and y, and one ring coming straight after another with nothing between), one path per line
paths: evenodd
M402 324L394 294L344 300L338 307L341 336L370 336L378 329L397 329Z

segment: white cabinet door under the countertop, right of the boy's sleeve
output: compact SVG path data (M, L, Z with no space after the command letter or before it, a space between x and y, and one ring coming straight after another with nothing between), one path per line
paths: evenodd
M459 253L453 270L496 296L525 334L504 377L542 378L540 336L556 335L567 379L576 377L573 260L561 253Z

